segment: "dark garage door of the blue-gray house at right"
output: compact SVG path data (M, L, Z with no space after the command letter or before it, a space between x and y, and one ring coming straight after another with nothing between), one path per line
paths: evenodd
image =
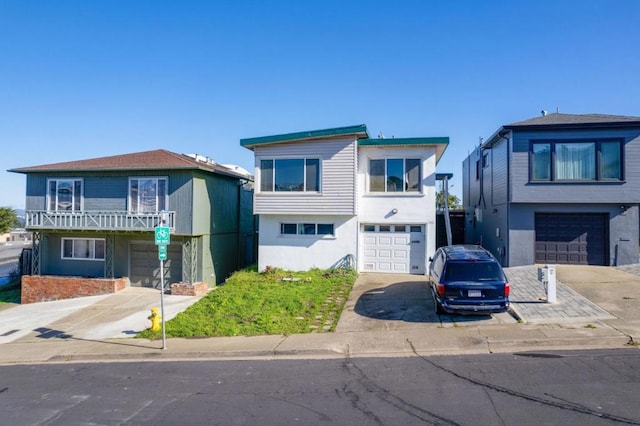
M536 263L608 265L607 214L536 213Z

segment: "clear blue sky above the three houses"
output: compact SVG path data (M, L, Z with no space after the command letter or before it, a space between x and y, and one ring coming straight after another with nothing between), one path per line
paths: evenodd
M164 148L252 170L239 140L366 124L462 160L542 109L640 116L640 1L0 0L7 169Z

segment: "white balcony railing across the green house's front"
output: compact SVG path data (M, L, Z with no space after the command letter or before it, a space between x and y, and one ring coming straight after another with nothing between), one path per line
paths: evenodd
M101 212L27 210L25 228L32 230L59 229L78 231L153 231L164 223L175 229L176 212Z

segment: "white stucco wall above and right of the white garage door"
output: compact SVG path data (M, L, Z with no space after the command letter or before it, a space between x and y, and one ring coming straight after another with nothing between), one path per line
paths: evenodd
M369 193L369 160L422 159L421 193ZM432 146L358 148L358 220L370 224L425 225L425 262L436 247L436 151ZM397 213L393 213L396 209Z

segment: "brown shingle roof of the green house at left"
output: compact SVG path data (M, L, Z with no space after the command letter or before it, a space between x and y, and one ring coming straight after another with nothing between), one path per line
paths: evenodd
M162 170L162 169L200 169L247 179L248 176L209 161L200 161L184 154L164 149L113 155L110 157L90 158L87 160L66 161L63 163L21 167L9 170L15 173L38 172L82 172L107 170ZM252 178L251 178L252 179Z

